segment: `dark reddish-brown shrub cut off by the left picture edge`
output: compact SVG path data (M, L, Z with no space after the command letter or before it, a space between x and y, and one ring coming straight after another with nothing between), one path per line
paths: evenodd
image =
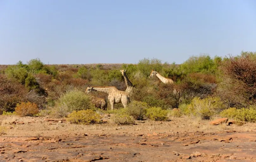
M14 111L16 104L25 101L26 89L18 81L0 75L0 113Z

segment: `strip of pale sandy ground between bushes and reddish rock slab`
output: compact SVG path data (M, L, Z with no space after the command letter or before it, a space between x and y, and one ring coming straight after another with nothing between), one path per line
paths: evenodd
M229 130L236 131L251 131L256 124L247 123L243 126L226 126L222 124L219 126L212 126L209 124L210 120L202 120L200 118L173 117L172 121L141 121L136 120L137 125L116 125L111 123L106 124L94 124L94 125L76 125L69 124L68 122L48 122L45 121L47 117L18 117L15 115L6 116L0 115L1 126L13 127L7 129L8 136L77 136L87 133L89 135L98 134L115 134L120 135L124 132L128 134L152 134L156 133L168 133L171 135L186 134L190 132L204 131L205 133L216 133ZM24 125L9 125L9 122L23 121Z

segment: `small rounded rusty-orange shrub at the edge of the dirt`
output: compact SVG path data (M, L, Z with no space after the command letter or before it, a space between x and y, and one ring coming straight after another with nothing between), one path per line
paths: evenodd
M17 104L15 112L19 116L34 116L39 112L39 109L35 103L21 102Z

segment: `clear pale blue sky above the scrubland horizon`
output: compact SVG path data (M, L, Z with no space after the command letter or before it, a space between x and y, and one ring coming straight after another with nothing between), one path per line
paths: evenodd
M182 63L256 51L255 0L0 0L0 64Z

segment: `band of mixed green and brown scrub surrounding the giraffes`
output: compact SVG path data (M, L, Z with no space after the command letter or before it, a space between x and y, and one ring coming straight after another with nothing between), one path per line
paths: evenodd
M40 59L27 64L0 67L0 113L3 115L66 117L71 123L101 123L99 114L113 113L115 124L134 120L168 120L168 115L200 117L216 115L256 122L256 53L211 58L192 56L183 64L142 59L138 64L46 65ZM84 91L87 86L115 86L125 91L120 69L134 85L127 108L99 110ZM157 71L174 84L164 84ZM179 94L173 93L179 89ZM105 98L107 94L93 92ZM109 102L109 101L107 101ZM178 108L178 109L174 109Z

